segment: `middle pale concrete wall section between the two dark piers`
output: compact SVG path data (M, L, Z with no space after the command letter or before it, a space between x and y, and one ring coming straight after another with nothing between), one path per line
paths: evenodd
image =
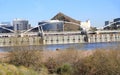
M68 44L68 43L84 43L85 35L56 35L45 36L43 39L44 44Z

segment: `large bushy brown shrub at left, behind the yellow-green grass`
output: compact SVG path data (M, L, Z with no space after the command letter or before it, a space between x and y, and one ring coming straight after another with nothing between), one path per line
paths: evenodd
M41 67L41 51L39 50L14 50L9 55L10 64L31 67L39 70Z

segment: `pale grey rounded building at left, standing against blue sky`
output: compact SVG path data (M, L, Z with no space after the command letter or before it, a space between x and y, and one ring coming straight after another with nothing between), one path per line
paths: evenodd
M14 31L23 32L30 28L28 20L14 19L13 20Z

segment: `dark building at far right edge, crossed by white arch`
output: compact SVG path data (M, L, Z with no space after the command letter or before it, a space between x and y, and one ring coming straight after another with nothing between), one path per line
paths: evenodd
M120 18L115 18L113 21L105 21L104 30L118 30L120 29Z

